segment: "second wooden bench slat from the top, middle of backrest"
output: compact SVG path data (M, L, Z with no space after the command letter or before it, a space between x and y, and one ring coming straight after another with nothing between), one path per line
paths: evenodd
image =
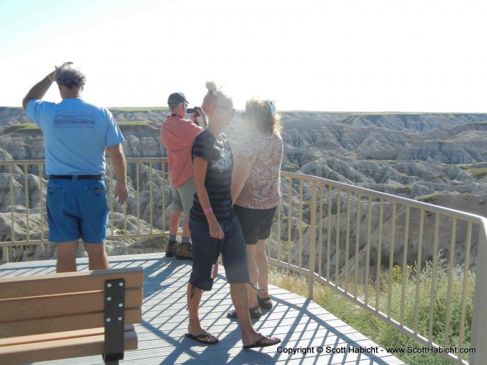
M125 308L142 306L143 289L125 291ZM116 298L113 298L115 302ZM63 295L42 295L38 297L0 300L0 326L35 318L72 316L81 313L104 311L104 292L90 291Z

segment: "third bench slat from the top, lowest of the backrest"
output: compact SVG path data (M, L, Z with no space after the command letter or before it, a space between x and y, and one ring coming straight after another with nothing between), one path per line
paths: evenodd
M125 311L126 325L141 323L141 321L141 308ZM102 323L104 323L104 313L79 314L78 316L19 321L11 323L11 325L0 325L0 338L71 330L85 330L87 328L97 328L102 325Z

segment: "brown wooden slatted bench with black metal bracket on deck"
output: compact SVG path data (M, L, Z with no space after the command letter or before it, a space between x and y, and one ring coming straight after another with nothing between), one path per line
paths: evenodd
M0 279L0 364L100 354L118 364L137 348L143 281L143 268Z

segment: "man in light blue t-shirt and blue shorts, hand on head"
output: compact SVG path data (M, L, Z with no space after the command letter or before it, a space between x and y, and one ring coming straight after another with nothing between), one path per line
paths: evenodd
M42 101L56 81L63 101ZM108 227L105 148L117 177L114 196L128 197L122 133L106 109L81 99L86 76L72 63L48 74L27 93L22 105L44 133L49 241L57 243L56 271L76 271L78 240L88 253L90 270L109 268L104 241Z

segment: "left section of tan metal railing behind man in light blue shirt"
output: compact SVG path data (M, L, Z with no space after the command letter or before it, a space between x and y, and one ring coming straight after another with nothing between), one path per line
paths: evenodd
M129 199L126 204L120 206L114 201L111 193L115 186L115 177L110 160L107 160L105 183L110 210L107 239L168 236L166 219L163 219L166 217L166 194L168 193L167 162L168 159L156 158L127 159L127 179L131 181ZM10 261L9 248L51 244L47 241L45 210L47 176L44 172L44 163L45 161L0 161L0 187L8 186L0 193L3 195L8 193L9 198L4 199L4 203L10 206L9 212L0 212L5 215L5 218L10 216L10 235L8 232L0 232L4 237L0 242L4 262ZM35 191L38 199L29 194L32 190ZM148 211L141 212L141 195L147 194L147 197L144 196L144 201L148 201L146 205ZM159 204L154 203L156 197ZM35 204L32 204L33 200ZM25 209L19 211L18 206L23 206ZM145 213L144 217L141 216L142 213ZM157 219L154 219L155 216ZM16 232L17 227L20 228L20 232Z

